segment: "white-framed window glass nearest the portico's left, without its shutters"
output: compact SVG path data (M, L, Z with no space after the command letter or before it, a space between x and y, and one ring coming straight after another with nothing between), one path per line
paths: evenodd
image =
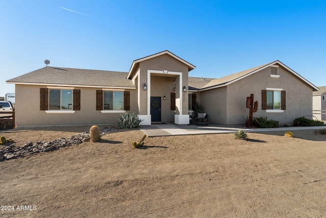
M103 110L123 110L123 91L103 91Z

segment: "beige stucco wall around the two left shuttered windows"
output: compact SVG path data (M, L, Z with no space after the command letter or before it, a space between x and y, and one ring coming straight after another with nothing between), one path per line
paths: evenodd
M116 124L120 113L101 113L96 110L96 90L100 88L80 88L80 110L73 114L47 114L40 110L40 88L46 86L16 84L15 123L22 126L80 126ZM130 111L138 113L137 90L130 91Z

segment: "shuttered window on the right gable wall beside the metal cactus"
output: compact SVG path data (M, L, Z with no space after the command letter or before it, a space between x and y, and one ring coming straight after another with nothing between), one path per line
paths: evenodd
M261 109L266 112L278 112L286 109L286 95L282 89L261 90Z

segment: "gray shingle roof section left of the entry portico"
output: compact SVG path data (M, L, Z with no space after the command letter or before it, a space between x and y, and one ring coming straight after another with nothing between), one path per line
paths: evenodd
M46 66L7 82L134 88L127 76L128 72Z

